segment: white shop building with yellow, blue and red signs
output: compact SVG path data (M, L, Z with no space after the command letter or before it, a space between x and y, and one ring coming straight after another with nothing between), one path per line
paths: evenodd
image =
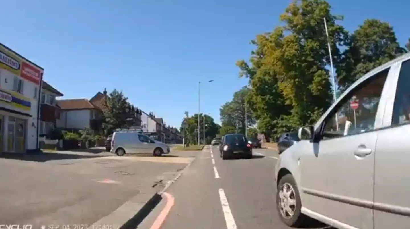
M0 151L39 148L43 68L0 43Z

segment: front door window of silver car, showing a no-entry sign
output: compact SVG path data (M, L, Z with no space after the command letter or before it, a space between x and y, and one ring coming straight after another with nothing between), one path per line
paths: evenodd
M377 108L389 69L364 81L330 112L325 121L323 139L368 132L374 129ZM336 115L337 114L337 115ZM337 121L336 121L337 120Z

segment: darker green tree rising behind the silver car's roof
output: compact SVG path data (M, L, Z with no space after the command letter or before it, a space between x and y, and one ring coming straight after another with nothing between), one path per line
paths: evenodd
M343 66L337 69L342 89L375 67L407 52L397 42L393 27L376 19L364 20L363 25L351 35L348 45Z

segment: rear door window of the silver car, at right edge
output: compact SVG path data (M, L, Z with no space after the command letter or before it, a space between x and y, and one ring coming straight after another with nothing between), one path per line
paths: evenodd
M410 61L401 64L394 98L392 126L410 123Z

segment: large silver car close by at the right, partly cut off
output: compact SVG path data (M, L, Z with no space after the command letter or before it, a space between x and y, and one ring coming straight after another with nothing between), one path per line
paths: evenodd
M362 76L276 169L276 203L288 226L306 216L343 229L410 228L410 54Z

